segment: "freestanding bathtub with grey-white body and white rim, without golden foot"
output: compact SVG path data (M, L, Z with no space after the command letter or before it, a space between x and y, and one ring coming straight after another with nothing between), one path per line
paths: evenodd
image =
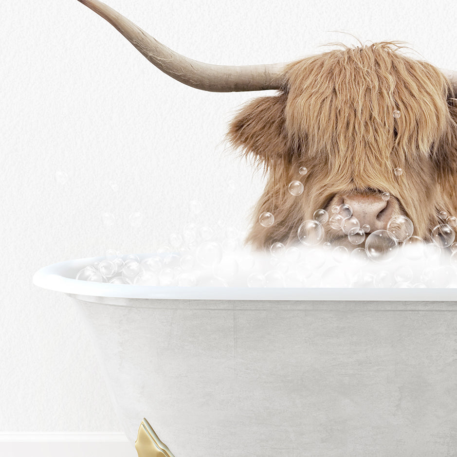
M175 457L457 455L456 289L147 287L41 269L76 300L132 441Z

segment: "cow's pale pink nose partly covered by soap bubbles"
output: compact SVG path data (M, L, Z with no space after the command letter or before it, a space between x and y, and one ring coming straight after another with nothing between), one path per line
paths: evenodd
M352 208L352 216L359 219L360 226L369 225L369 232L385 230L392 218L392 204L381 196L352 194L343 197L343 202Z

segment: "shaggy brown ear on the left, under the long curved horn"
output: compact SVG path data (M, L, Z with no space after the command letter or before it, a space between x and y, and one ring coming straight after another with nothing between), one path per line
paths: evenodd
M285 93L250 101L230 123L227 139L266 168L287 160L290 145L285 128L286 102Z

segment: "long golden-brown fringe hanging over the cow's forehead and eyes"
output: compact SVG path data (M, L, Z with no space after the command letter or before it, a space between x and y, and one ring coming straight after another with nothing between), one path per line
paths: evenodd
M288 66L286 124L309 154L371 154L378 164L394 158L398 166L429 154L450 122L452 88L439 69L400 49L385 41Z

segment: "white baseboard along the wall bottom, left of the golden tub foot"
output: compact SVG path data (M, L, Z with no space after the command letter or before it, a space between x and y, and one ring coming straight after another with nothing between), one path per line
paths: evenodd
M1 457L138 457L123 434L0 433Z

